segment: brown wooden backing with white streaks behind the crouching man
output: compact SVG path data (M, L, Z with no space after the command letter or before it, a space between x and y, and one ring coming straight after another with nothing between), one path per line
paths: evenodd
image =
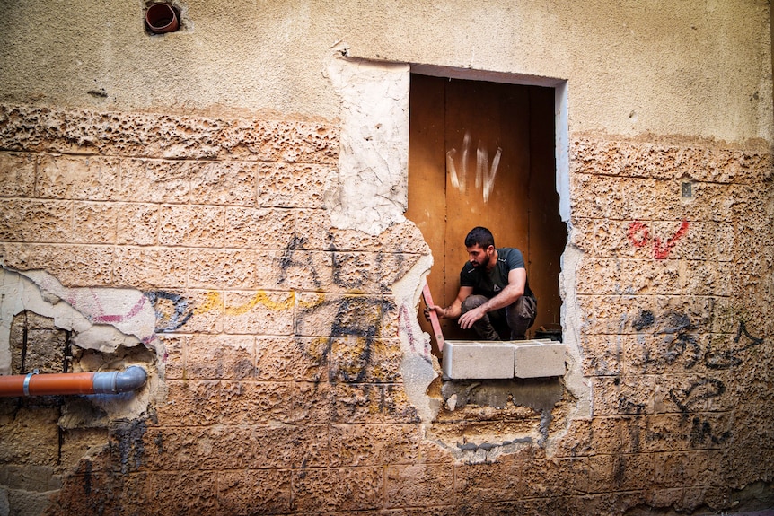
M550 86L410 76L406 217L435 259L427 276L434 302L453 302L468 259L465 235L485 226L496 247L523 253L538 299L528 337L561 335L559 273L567 226L557 192L557 98ZM456 321L442 319L441 325L444 337L471 338ZM433 345L438 354L435 340Z

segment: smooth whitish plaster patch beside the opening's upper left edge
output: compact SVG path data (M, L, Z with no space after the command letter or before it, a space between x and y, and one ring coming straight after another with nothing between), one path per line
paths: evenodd
M378 234L405 220L409 66L346 56L341 44L327 66L342 123L339 177L326 188L325 204L337 227Z

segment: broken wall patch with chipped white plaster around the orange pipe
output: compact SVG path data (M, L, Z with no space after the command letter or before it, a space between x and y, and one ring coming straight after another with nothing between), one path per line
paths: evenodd
M121 422L148 415L163 391L155 319L143 293L66 288L42 270L0 267L0 373L148 372L141 389L120 395L0 398L0 513L46 512L63 478L109 448Z

